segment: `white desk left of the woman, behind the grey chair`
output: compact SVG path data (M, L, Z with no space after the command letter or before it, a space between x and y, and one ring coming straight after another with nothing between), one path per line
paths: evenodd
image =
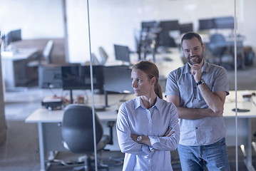
M135 98L134 95L108 95L110 108L105 111L96 112L103 125L105 135L109 135L109 128L107 127L108 121L116 121L117 111L121 103L119 100L130 100ZM104 104L103 95L95 95L96 105ZM91 105L91 102L88 102ZM39 152L41 171L46 170L46 152L48 151L66 151L63 147L61 137L61 122L63 119L63 110L46 110L46 108L39 108L35 110L28 118L26 123L36 123L39 131ZM106 149L120 150L116 135L116 125L113 127L113 145L106 145Z

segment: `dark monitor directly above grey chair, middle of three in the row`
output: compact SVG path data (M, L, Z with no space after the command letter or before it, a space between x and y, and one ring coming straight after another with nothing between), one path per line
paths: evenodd
M103 66L93 66L93 88L103 88ZM62 66L63 90L91 89L90 66Z

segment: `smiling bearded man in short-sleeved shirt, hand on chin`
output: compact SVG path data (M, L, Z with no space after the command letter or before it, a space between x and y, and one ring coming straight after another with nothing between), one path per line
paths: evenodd
M181 46L188 63L169 74L165 95L178 108L182 170L203 170L204 162L209 171L230 170L222 117L229 94L227 71L204 60L205 44L198 33L185 33Z

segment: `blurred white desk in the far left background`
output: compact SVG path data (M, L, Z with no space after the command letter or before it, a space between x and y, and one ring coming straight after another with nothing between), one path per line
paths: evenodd
M2 51L2 71L6 89L14 89L19 83L26 83L26 59L33 56L36 48L20 48L16 51Z

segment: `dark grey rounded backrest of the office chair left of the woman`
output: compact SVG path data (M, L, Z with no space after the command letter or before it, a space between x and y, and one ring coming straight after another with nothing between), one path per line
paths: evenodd
M86 105L72 104L66 106L63 115L61 133L68 149L74 153L93 152L93 110ZM103 136L101 122L96 115L96 143Z

